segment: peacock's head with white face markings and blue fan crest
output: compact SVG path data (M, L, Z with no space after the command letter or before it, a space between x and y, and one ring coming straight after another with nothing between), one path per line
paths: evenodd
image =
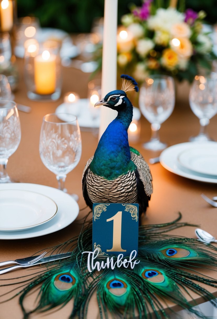
M138 92L138 86L134 78L129 75L122 74L122 88L121 90L115 90L106 94L104 99L96 102L95 106L104 105L113 110L119 111L126 108L128 104L131 105L126 92L134 90Z

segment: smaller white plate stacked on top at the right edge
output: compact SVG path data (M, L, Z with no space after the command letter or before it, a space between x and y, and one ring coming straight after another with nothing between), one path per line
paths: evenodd
M209 177L217 178L217 143L192 147L178 155L181 166ZM207 177L205 176L205 177Z

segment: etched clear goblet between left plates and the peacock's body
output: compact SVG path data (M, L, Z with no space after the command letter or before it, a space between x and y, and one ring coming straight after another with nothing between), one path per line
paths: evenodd
M64 188L66 175L81 159L81 133L77 117L72 114L47 114L43 118L39 153L43 164L54 174L59 189ZM72 194L78 200L76 194Z

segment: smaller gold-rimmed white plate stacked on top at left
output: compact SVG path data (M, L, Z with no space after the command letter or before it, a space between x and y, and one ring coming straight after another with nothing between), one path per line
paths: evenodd
M0 231L21 231L42 225L57 213L53 199L22 189L0 190Z

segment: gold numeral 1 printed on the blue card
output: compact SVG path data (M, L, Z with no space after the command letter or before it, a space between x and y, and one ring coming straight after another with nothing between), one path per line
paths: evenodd
M118 211L115 216L106 219L106 221L113 220L113 246L107 251L126 251L126 249L121 248L121 219L122 211Z

